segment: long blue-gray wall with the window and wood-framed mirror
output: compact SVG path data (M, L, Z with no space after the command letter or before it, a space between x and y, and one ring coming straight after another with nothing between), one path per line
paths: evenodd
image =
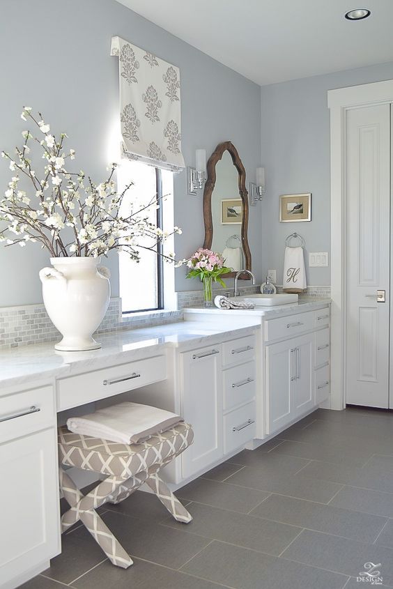
M66 130L77 150L76 169L105 178L108 141L118 114L118 62L109 56L111 36L121 36L180 67L183 154L194 165L195 149L209 155L230 140L249 175L261 161L261 94L253 82L144 20L114 0L1 0L0 149L20 144L26 123L22 105L40 109L52 129ZM0 160L0 187L10 172ZM250 221L254 268L261 279L260 217ZM203 242L202 194L187 195L185 173L175 178L175 223L183 228L176 254L188 257ZM0 307L42 300L38 270L49 256L35 245L0 246ZM108 262L118 295L116 255ZM176 290L197 289L176 270Z

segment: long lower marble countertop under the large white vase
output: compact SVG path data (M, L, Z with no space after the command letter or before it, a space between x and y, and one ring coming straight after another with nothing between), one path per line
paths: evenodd
M164 353L165 346L192 349L199 345L217 342L217 336L226 339L239 337L249 328L226 327L213 321L180 321L143 329L123 330L97 335L102 344L99 350L61 352L54 349L54 342L23 346L0 353L1 390L20 385L31 386L34 380L70 376L77 372L95 370L110 365L141 358L144 351L151 355Z

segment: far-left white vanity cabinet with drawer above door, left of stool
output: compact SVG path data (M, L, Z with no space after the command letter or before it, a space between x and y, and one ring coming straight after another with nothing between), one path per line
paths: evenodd
M61 551L52 385L0 397L0 588L13 589Z

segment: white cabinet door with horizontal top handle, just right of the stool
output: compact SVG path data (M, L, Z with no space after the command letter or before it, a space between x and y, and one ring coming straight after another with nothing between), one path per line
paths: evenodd
M183 417L194 443L182 454L183 477L208 468L223 455L221 346L181 354Z

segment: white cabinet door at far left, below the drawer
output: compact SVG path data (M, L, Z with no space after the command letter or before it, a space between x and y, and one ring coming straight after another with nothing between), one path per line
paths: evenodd
M0 472L0 578L7 587L60 552L56 430L1 444Z

